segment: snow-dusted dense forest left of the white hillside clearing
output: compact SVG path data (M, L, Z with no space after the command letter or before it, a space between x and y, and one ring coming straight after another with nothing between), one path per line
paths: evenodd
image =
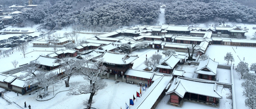
M100 27L122 27L134 24L155 24L160 4L154 0L62 0L43 2L36 10L27 10L14 17L16 25L42 23L48 29L75 24ZM45 8L49 7L49 8Z

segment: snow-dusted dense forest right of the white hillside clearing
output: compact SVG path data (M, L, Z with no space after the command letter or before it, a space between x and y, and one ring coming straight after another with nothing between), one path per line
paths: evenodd
M176 25L209 20L255 23L256 9L232 0L177 0L167 6L165 19Z

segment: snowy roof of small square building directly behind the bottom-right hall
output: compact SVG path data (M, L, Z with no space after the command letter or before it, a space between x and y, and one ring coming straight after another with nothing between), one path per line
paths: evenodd
M195 73L216 76L218 64L219 62L215 62L211 58L200 60Z

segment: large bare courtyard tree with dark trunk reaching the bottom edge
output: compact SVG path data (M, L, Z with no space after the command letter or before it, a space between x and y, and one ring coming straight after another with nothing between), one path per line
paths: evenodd
M98 76L106 74L106 66L103 65L103 59L97 58L97 63L89 63L87 59L81 59L76 61L76 71L84 76L84 80L88 81L88 84L82 84L80 86L73 86L73 90L68 92L68 95L88 94L90 97L86 100L86 109L91 109L93 103L93 96L98 90L104 89L107 84Z

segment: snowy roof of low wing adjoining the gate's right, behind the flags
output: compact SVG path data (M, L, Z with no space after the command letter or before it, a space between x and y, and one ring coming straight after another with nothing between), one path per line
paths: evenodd
M129 68L128 70L126 70L125 75L150 79L150 78L152 78L154 73L149 72L149 71L135 70L135 69L130 69Z

